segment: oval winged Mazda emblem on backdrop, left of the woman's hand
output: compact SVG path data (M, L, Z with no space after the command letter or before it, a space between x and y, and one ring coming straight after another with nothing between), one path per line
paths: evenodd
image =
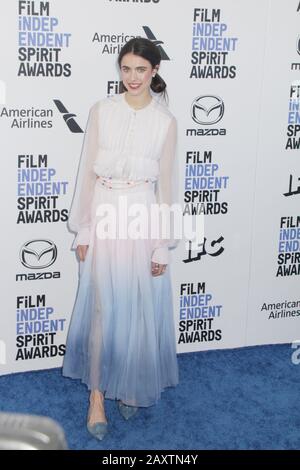
M20 260L29 269L48 268L57 258L57 247L51 240L30 240L20 250Z

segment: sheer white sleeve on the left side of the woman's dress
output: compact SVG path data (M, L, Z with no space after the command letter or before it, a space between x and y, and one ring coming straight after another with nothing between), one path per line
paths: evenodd
M78 245L89 245L91 228L91 204L97 175L93 163L98 147L98 104L89 111L84 141L81 150L73 201L69 213L68 227L77 233L72 248Z

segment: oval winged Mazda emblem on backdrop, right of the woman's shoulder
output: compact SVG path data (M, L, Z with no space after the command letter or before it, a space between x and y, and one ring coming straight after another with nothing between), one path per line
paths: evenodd
M201 95L192 104L192 118L204 126L216 124L224 116L224 103L219 96Z

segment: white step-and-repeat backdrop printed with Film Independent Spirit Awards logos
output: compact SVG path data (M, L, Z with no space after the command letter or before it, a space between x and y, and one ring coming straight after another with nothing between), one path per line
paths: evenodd
M297 340L299 0L0 0L0 374L59 367L79 267L67 229L90 107L147 37L178 121L177 351Z

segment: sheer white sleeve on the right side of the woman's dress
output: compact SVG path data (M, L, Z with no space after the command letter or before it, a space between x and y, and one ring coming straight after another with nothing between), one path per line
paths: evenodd
M177 158L177 121L173 116L169 124L166 139L159 160L159 177L156 184L158 204L178 203L178 158ZM174 236L174 218L170 217L170 237L161 238L155 244L151 260L155 263L170 262L170 248L176 248L179 240Z

